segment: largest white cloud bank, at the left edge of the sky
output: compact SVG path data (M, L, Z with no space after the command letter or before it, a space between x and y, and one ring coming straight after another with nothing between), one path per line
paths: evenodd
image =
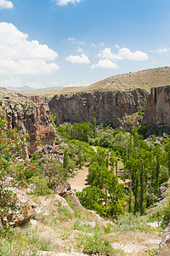
M58 57L53 49L37 40L29 41L13 24L0 22L0 38L1 74L47 74L59 69L56 63L49 63Z

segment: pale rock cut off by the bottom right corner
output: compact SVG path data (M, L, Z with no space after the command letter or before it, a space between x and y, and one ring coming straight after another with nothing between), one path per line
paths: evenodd
M167 229L163 231L161 243L159 245L158 255L170 255L170 224L168 224Z

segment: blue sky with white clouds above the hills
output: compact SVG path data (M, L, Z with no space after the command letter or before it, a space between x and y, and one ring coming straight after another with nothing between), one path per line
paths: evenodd
M85 86L169 61L169 0L0 0L0 87Z

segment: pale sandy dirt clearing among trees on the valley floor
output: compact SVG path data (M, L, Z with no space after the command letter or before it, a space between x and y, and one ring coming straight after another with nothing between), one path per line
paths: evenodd
M78 171L76 177L71 177L68 182L71 184L72 190L82 191L88 187L88 166L83 166L80 171Z

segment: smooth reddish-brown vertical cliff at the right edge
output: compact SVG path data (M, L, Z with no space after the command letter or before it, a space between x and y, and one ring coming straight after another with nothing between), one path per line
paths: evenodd
M146 102L144 125L150 131L156 127L170 130L170 85L151 89Z

